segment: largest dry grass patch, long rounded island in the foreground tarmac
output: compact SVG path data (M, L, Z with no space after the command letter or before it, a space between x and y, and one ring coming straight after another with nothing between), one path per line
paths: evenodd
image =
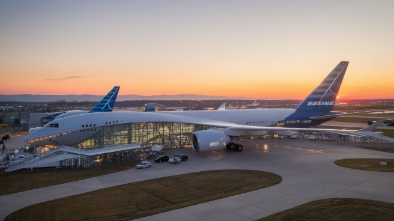
M6 220L131 220L278 184L278 175L215 170L111 187L29 206Z

